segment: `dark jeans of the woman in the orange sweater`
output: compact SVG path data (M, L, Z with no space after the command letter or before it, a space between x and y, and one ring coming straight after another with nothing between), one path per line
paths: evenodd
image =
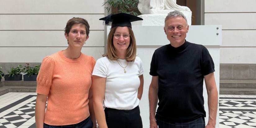
M62 126L54 126L54 125L47 125L43 123L43 128L92 128L92 120L91 117L72 125L62 125Z

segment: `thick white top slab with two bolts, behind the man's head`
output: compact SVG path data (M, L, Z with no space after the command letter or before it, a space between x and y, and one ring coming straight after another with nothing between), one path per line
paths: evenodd
M107 33L111 26L107 27ZM163 46L169 41L164 26L132 26L137 46ZM218 34L217 34L218 33ZM204 46L220 46L222 42L221 25L191 25L186 40Z

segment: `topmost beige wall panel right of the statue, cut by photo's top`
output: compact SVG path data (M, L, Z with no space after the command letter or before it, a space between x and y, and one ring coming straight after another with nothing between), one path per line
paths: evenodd
M256 12L256 0L204 0L204 12Z

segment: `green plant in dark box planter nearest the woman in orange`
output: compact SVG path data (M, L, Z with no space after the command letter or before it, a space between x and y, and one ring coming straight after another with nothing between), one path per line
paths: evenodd
M29 63L26 63L27 66L23 68L25 75L23 75L24 81L36 81L40 65L36 65L35 67L30 67Z

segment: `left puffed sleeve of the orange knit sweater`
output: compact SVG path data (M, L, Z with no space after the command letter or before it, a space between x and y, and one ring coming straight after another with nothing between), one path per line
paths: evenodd
M37 76L37 93L44 95L49 94L49 90L52 85L53 69L54 60L51 57L46 56L43 59L41 68Z

